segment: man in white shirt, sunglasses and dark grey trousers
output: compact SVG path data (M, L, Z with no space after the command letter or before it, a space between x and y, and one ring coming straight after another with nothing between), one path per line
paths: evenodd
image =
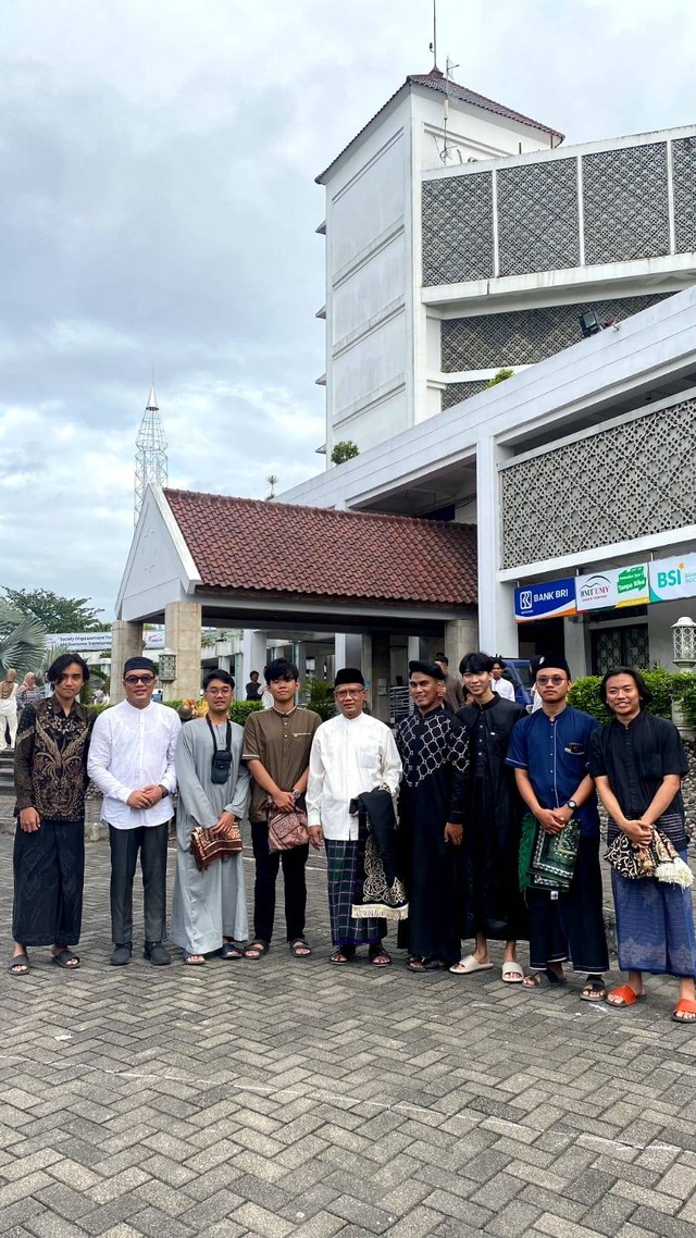
M156 704L155 664L130 657L124 666L125 701L99 714L87 770L104 795L102 821L111 849L111 938L114 967L133 953L133 879L140 852L145 901L145 951L155 967L171 963L166 936L167 837L176 790L175 749L181 722Z

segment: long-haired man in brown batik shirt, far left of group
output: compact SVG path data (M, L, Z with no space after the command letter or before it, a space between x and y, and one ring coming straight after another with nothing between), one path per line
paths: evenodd
M62 654L47 678L53 693L22 709L15 753L11 976L28 972L28 946L51 946L57 967L79 967L71 947L82 931L87 749L94 716L78 697L89 667L79 654Z

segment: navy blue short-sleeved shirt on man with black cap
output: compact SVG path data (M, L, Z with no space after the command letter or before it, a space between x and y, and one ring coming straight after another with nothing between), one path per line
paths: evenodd
M598 728L597 718L570 704L555 718L537 709L513 727L507 764L526 770L542 808L560 808L572 799L589 771L591 739ZM598 836L594 792L573 816L582 834Z

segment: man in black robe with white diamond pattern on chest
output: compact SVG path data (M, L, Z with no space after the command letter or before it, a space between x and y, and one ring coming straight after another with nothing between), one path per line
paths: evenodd
M430 972L459 958L459 858L468 739L445 709L445 676L435 662L409 662L416 709L396 730L404 765L400 826L409 920L399 945L409 968Z

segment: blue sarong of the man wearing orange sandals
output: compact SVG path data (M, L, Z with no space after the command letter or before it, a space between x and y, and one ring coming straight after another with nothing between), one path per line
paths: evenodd
M680 851L686 862L686 851ZM646 877L632 881L612 869L622 972L696 979L691 890Z

